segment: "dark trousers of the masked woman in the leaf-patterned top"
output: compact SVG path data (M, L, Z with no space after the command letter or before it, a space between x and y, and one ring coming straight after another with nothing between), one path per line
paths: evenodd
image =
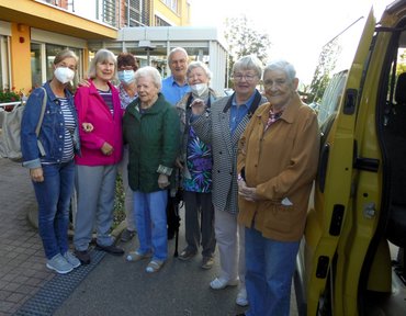
M214 236L214 207L212 193L183 192L185 212L185 238L188 249L198 251L202 245L202 256L213 257L216 248Z

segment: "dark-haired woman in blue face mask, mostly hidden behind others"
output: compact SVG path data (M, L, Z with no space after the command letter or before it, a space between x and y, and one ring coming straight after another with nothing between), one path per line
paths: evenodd
M120 84L119 95L121 108L123 111L127 105L137 98L137 87L135 83L135 71L138 69L137 60L134 55L129 53L121 53L117 56L117 75ZM123 159L119 166L119 172L121 172L123 178L123 188L125 193L125 221L127 224L126 229L121 235L122 241L131 240L135 235L135 221L133 214L133 192L128 185L128 146L124 146Z

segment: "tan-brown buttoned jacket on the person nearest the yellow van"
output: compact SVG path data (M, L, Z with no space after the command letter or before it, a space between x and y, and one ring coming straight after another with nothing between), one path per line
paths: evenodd
M282 116L264 132L270 106L267 103L257 110L238 144L237 170L245 168L247 187L256 188L260 199L249 202L238 198L238 222L253 225L263 237L296 241L304 232L317 171L317 116L295 94Z

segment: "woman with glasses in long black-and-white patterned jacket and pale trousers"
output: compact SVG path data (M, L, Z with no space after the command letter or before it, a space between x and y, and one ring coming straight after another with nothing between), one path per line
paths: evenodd
M244 228L237 224L237 145L256 109L267 102L256 89L262 65L253 56L245 56L233 66L235 93L214 102L211 112L195 103L192 127L199 137L212 146L214 229L219 250L221 274L210 286L221 290L241 282L236 303L248 304L245 287Z

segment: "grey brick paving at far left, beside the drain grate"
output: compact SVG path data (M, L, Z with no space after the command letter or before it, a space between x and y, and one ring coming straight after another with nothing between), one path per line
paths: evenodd
M43 246L27 221L36 207L27 170L0 158L0 316L15 313L55 273L45 267Z

